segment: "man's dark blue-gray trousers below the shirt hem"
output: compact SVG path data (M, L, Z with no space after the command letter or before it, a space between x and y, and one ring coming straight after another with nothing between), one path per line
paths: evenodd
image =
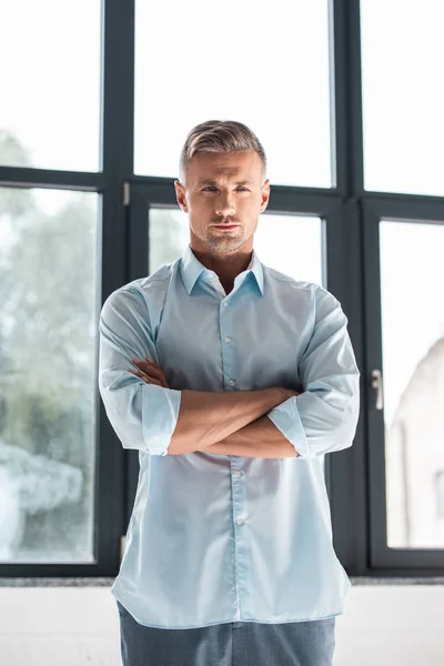
M335 617L194 629L140 625L117 602L123 666L332 666Z

